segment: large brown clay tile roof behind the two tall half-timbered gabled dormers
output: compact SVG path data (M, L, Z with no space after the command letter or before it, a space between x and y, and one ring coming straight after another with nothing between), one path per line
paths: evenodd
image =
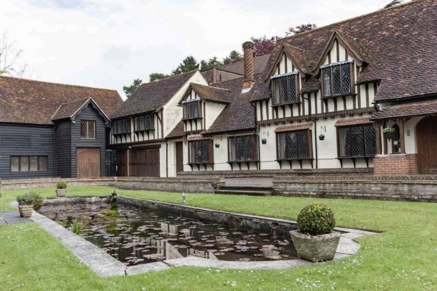
M356 81L380 81L375 101L436 94L436 19L436 0L415 0L282 38L270 55L264 80L283 44L303 49L314 66L337 32L357 55L369 59ZM268 90L257 90L262 94L253 100L266 98Z

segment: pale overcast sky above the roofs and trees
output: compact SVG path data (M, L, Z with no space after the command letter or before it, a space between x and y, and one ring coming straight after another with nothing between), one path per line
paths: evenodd
M187 55L224 57L251 36L323 26L390 0L1 0L0 35L32 79L117 89L169 73Z

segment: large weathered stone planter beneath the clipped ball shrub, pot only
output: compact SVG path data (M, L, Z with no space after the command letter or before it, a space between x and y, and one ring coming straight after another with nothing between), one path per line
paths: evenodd
M321 235L307 235L299 230L290 231L298 257L312 262L334 259L340 233L333 231Z

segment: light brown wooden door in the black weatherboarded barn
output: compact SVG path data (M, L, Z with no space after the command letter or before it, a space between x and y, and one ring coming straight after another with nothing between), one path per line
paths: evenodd
M77 178L100 177L100 148L77 149Z

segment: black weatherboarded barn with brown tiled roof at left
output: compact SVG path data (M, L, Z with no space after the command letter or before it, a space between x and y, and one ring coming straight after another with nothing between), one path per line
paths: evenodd
M104 176L115 90L0 77L0 178Z

